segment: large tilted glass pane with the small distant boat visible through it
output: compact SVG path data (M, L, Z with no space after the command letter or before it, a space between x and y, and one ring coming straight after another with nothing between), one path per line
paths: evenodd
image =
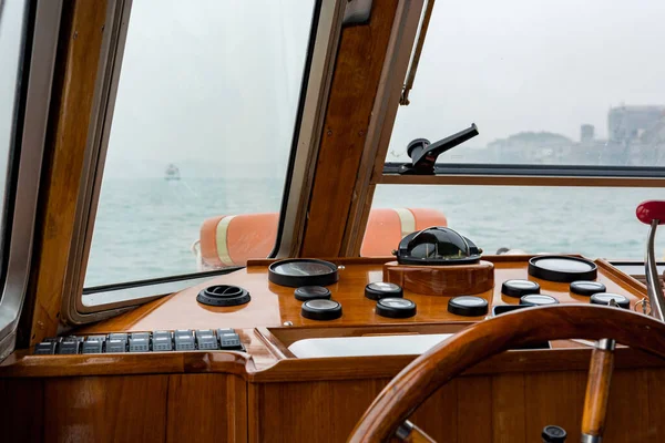
M133 2L86 287L269 254L314 2Z

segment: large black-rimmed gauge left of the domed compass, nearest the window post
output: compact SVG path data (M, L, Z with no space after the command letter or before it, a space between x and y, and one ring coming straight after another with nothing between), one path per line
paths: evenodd
M279 286L328 286L338 279L335 264L314 258L291 258L268 266L268 280Z

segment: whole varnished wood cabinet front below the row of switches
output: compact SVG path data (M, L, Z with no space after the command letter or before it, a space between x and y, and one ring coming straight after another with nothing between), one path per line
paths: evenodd
M2 442L246 442L236 375L0 379Z

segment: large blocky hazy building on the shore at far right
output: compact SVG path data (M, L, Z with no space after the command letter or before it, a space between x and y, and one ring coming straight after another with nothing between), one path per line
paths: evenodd
M618 106L607 113L610 142L628 144L640 141L665 117L665 106Z

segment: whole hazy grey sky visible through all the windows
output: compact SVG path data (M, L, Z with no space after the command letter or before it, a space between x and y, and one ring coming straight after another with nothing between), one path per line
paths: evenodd
M0 142L20 3L7 0L0 29ZM158 176L172 162L238 175L258 158L256 175L280 176L313 3L134 0L105 175ZM470 146L520 131L579 140L582 123L605 137L610 106L665 104L662 42L663 0L439 0L390 152L471 122Z

